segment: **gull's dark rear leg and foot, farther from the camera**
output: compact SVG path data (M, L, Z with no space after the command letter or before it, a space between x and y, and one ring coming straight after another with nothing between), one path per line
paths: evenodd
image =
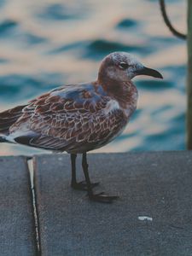
M73 189L78 189L78 190L87 190L87 183L82 181L82 182L77 182L77 177L76 177L76 158L77 154L71 154L71 163L72 163L72 181L71 181L71 186ZM98 185L99 183L91 183L91 188L94 188Z

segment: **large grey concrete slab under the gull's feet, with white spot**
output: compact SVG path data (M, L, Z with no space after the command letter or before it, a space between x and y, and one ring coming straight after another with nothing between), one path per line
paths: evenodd
M35 157L42 255L191 255L192 152L88 160L97 190L119 201L99 204L73 191L68 155Z

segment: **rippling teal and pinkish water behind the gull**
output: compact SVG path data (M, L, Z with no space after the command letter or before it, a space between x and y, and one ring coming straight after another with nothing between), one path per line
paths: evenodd
M166 1L181 32L186 31L186 2ZM100 151L181 150L185 48L166 28L155 0L0 0L0 108L61 84L96 79L102 57L125 50L165 79L135 79L137 112L124 133ZM0 148L0 154L42 152L19 145Z

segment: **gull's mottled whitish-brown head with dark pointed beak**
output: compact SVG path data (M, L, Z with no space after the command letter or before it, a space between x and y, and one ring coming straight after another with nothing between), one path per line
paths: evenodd
M107 55L99 69L98 79L113 79L116 81L129 81L137 75L147 75L163 79L162 75L137 61L137 58L126 52L113 52Z

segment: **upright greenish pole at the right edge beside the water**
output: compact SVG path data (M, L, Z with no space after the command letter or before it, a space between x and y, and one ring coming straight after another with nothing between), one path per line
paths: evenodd
M187 148L192 149L192 1L188 0Z

